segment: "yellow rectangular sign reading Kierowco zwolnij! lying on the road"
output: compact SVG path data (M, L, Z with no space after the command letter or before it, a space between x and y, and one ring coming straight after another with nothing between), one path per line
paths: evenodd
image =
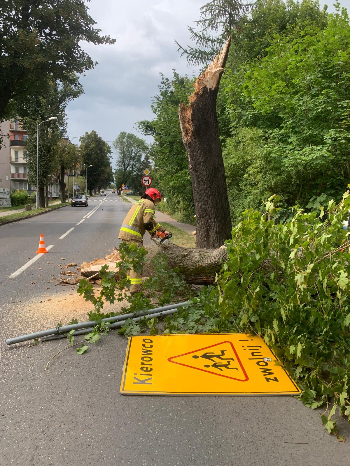
M132 336L120 393L125 395L299 395L259 336Z

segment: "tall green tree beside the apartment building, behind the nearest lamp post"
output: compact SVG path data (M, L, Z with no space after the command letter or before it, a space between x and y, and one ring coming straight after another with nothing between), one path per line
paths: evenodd
M56 155L60 139L66 132L67 103L80 96L82 87L77 76L70 77L74 84L51 81L45 93L36 99L32 99L26 107L24 127L28 130L27 160L28 179L32 185L36 185L36 130L37 124L56 117L54 122L46 122L40 126L39 140L39 206L44 207L44 187L48 184L57 164Z

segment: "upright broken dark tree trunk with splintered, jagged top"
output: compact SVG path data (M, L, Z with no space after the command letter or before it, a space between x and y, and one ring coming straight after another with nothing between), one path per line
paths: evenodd
M231 37L195 83L179 120L196 209L196 247L215 249L231 237L230 206L217 124L217 92Z

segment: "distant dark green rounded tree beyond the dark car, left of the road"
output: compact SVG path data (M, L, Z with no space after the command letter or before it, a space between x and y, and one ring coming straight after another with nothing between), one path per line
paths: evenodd
M92 130L90 133L86 131L85 135L80 138L79 150L85 166L92 165L88 168L87 176L87 188L91 196L92 190L96 193L104 181L113 181L111 170L109 170L111 147L102 137L98 136L96 131Z

